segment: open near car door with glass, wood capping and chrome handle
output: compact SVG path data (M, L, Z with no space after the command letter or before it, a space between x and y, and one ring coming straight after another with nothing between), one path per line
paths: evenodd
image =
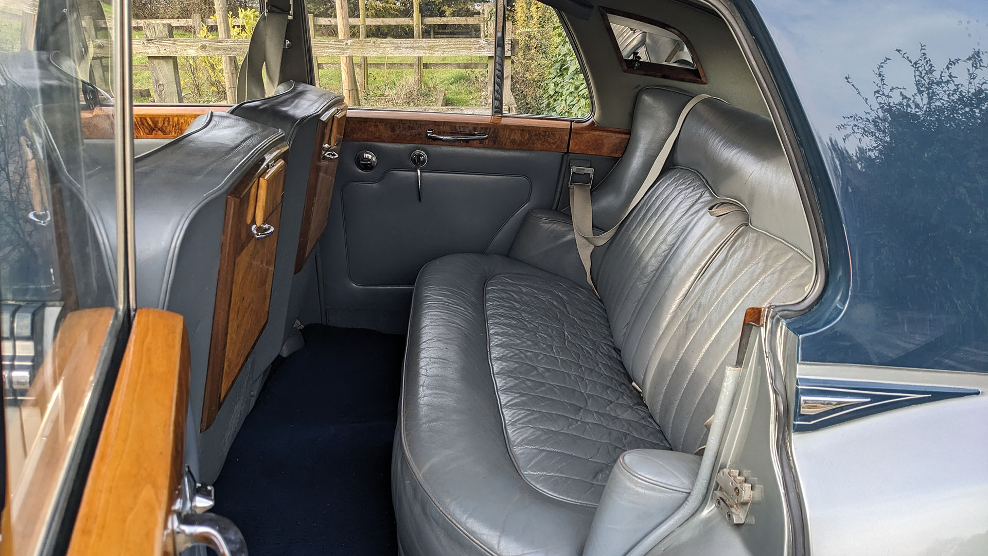
M94 146L84 122L130 117L125 90L103 103L93 84L97 65L129 82L129 36L84 35L85 4L0 2L19 14L0 43L0 552L176 554L212 535L243 554L236 527L202 513L183 319L134 311L133 223L98 216L133 195L129 126ZM90 189L96 165L116 175L109 199Z

